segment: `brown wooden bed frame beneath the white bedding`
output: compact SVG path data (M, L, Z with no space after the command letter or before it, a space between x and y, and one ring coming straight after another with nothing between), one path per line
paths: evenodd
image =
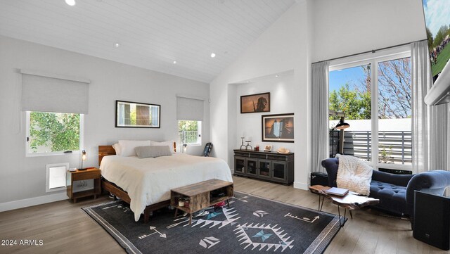
M174 151L176 151L176 143L174 142ZM101 160L103 157L108 155L115 155L115 150L113 146L98 146L98 166L101 164ZM124 191L119 186L109 182L107 179L101 177L101 188L102 190L109 191L114 195L114 199L117 200L117 197L122 199L127 203L131 202L131 198L129 198L127 191ZM146 209L143 210L143 223L148 223L150 213L154 210L158 210L160 208L165 208L170 205L170 200L161 201L159 203L155 203L153 205L147 205Z

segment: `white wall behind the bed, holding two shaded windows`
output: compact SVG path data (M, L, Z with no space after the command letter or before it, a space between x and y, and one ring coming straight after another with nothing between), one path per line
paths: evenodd
M176 94L205 98L203 142L210 141L209 86L203 82L106 61L101 58L0 37L0 206L2 203L45 196L46 164L79 167L79 155L25 157L25 113L20 112L18 69L85 77L89 84L89 114L84 121L84 165L98 166L98 145L118 139L177 139ZM161 128L116 128L115 100L161 105ZM190 147L200 154L203 146Z

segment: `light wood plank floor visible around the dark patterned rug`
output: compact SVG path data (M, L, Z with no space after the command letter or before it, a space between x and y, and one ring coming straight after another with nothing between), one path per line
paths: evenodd
M319 198L293 186L233 177L236 191L252 193L285 203L316 209ZM80 208L110 201L80 199L78 203L58 201L30 208L0 212L0 240L17 240L17 246L0 246L0 253L125 253L122 247ZM337 213L325 201L323 210ZM150 217L151 220L151 217ZM19 246L20 240L43 240L42 246ZM338 232L325 253L450 253L413 239L407 220L378 215L372 210L355 210L353 220Z

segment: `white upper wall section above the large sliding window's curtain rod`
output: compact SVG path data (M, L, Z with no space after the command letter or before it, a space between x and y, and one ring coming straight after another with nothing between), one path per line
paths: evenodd
M312 61L426 39L422 0L314 0Z

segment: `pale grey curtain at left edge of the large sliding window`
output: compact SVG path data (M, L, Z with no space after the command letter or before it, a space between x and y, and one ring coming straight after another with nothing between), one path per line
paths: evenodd
M321 166L328 158L328 61L314 63L311 76L312 172L326 172Z

